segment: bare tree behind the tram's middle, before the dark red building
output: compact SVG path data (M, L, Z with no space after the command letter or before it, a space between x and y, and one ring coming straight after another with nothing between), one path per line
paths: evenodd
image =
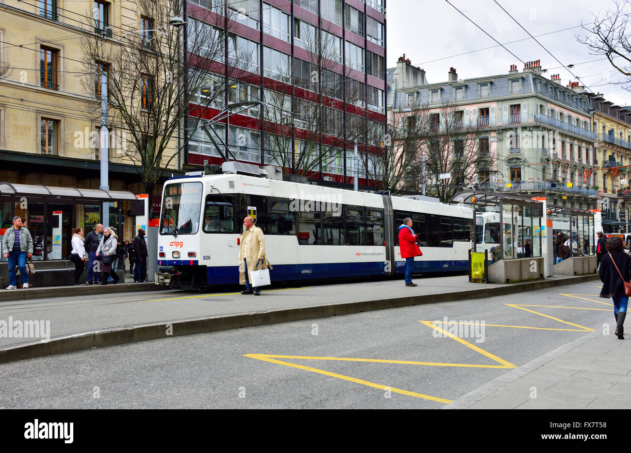
M281 167L283 174L309 175L319 172L321 165L326 172L341 160L344 145L352 149L366 132L365 120L356 115L347 114L344 127L343 93L364 106L365 95L360 83L336 72L341 68L341 41L327 30L318 36L317 28L303 28L300 45L308 50L309 59L295 58L293 74L284 54L266 68L267 75L278 81L266 86L266 162Z

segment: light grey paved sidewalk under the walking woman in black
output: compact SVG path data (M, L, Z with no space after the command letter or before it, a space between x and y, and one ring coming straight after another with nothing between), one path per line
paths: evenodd
M536 358L445 409L628 409L631 335L600 329Z

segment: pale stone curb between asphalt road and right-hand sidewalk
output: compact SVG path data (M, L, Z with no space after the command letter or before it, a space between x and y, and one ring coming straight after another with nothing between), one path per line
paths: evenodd
M581 346L583 343L587 343L587 341L591 340L596 336L602 335L602 332L596 330L594 332L589 332L585 336L581 338L575 339L574 341L570 341L570 343L563 344L563 346L559 346L557 349L552 350L534 360L531 360L528 363L525 363L519 368L515 368L514 370L510 370L508 373L503 374L501 376L496 377L487 384L481 385L473 392L469 392L468 394L459 397L458 399L452 401L451 404L447 404L442 409L469 409L473 404L479 403L481 400L485 399L485 397L489 396L493 392L498 391L502 387L511 382L515 382L517 379L524 377L525 375L533 372L534 370L543 367L548 362L551 362L557 357L562 356L565 353Z

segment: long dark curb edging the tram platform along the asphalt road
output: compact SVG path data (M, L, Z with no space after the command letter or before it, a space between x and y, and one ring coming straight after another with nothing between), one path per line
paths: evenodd
M480 288L479 290L452 291L450 293L427 294L417 296L392 297L358 302L334 303L331 305L315 305L292 309L270 310L268 312L252 312L237 315L184 319L180 321L153 322L122 326L100 331L81 332L33 343L17 344L0 349L0 363L15 362L27 358L63 354L74 351L115 346L151 339L164 339L172 336L192 335L239 329L242 327L266 326L281 322L304 321L331 316L343 316L373 310L394 309L422 305L425 303L453 302L475 298L495 297L522 291L541 290L553 286L574 285L586 281L598 280L598 274L540 280L526 283L514 283L507 286ZM148 285L148 284L146 284ZM136 284L135 286L144 286ZM135 287L134 286L134 287ZM153 285L159 288L157 285ZM90 289L90 287L86 287ZM107 286L105 287L107 288ZM103 289L105 289L103 288ZM121 292L121 291L118 291ZM453 404L453 403L452 403Z

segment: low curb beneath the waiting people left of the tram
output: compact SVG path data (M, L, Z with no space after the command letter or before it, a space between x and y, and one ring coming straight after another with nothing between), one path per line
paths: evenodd
M51 297L76 297L90 296L95 294L110 293L136 293L138 291L160 291L165 290L163 286L154 283L117 283L89 285L89 286L46 286L45 288L27 288L26 290L0 290L0 300L9 302L11 300L32 300L35 298Z

